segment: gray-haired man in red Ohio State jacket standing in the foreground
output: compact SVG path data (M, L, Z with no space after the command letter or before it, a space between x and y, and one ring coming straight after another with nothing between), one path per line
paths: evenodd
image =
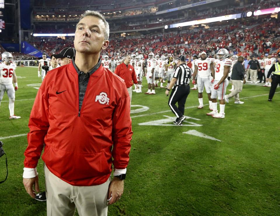
M34 198L44 148L47 215L107 215L124 189L132 136L124 81L101 65L109 25L86 11L76 25L71 64L48 73L29 119L23 184ZM114 165L114 178L110 174ZM111 182L111 183L110 183Z

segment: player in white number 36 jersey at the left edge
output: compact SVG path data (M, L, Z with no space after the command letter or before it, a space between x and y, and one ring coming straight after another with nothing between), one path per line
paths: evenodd
M18 90L17 76L15 75L16 64L12 61L13 56L9 52L3 52L3 62L0 63L0 105L4 93L7 92L9 98L10 119L20 119L20 116L14 114L15 109L15 91ZM15 88L13 86L15 84Z

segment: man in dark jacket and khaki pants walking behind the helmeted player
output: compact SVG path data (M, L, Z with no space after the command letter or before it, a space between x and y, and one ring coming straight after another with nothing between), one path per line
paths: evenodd
M237 62L234 64L232 68L232 76L230 79L232 80L232 85L234 86L234 90L230 92L228 95L225 95L225 101L228 103L229 98L234 96L234 103L235 104L244 104L244 102L239 100L239 93L242 91L243 84L240 80L243 80L243 83L246 83L246 79L244 78L244 68L243 63L244 57L239 56Z

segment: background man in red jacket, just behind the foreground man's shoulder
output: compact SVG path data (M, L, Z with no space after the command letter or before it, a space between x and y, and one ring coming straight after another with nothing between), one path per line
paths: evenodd
M115 74L124 80L126 83L126 88L130 97L130 104L132 99L132 86L133 83L136 84L136 89L138 88L138 82L136 78L136 73L134 71L134 67L129 64L131 61L130 55L124 56L124 62L119 64L115 69ZM132 83L133 80L133 83Z

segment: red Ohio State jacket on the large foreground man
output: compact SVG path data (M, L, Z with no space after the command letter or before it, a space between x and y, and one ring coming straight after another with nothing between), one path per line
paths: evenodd
M28 126L27 168L37 166L44 148L42 159L55 176L74 186L91 186L107 181L112 163L115 169L128 165L130 98L124 81L102 65L89 78L80 112L73 64L49 71Z

